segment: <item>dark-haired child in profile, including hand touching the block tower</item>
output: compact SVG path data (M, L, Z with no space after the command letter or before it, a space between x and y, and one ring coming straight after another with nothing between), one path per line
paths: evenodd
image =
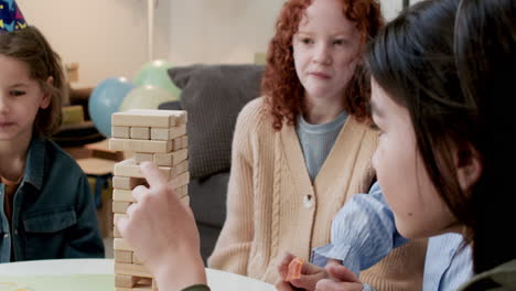
M427 17L439 17L439 6L449 2L432 1L436 9ZM454 40L442 37L453 28L421 31L420 22L409 24L416 12L391 22L367 54L373 118L380 132L374 157L379 183L401 235L454 231L471 242L480 274L462 290L515 290L516 196L514 174L504 168L516 164L514 144L507 142L516 133L515 100L505 96L516 68L514 0L462 0ZM170 195L154 165L141 169L150 188L133 192L138 203L118 222L120 233L159 287L208 290L200 285L206 278L191 213ZM171 215L163 219L165 213ZM342 268L329 271L334 278L321 280L318 290L338 290L333 280L356 282Z

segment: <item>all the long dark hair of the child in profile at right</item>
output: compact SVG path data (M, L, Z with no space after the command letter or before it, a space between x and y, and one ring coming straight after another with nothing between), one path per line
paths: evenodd
M408 109L432 184L465 226L477 273L516 258L514 171L505 170L516 164L515 2L463 0L459 10L459 0L420 2L366 53L373 77ZM471 191L459 185L452 148L481 161Z

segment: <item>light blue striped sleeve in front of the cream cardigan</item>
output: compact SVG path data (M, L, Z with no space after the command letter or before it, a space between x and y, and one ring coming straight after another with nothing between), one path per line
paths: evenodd
M329 258L337 259L358 274L407 241L398 234L393 211L375 183L369 194L356 194L337 213L331 244L315 248L312 262L325 266Z

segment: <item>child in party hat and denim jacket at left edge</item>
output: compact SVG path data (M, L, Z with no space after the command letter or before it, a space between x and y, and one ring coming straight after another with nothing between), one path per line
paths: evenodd
M86 175L46 138L61 122L60 58L15 2L0 9L0 262L101 258Z

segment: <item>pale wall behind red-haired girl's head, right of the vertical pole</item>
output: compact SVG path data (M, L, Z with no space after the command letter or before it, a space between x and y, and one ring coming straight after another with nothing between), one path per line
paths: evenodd
M249 63L265 53L283 0L171 0L170 55L178 65ZM381 0L387 19L402 0Z

